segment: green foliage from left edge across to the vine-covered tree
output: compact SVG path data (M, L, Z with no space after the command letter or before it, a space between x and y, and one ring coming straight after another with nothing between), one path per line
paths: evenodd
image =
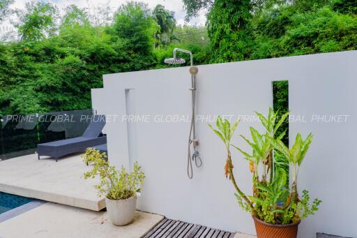
M102 87L102 75L161 68L174 45L197 53L197 64L208 62L206 30L174 28L173 13L160 7L153 15L144 3L130 2L98 25L74 5L60 20L56 7L41 1L16 14L19 39L0 43L0 114L91 108L90 90Z

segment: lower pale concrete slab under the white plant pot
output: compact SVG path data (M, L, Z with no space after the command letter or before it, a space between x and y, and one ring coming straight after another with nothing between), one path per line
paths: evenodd
M0 223L0 237L139 238L146 235L163 218L157 214L137 211L132 223L119 227L112 224L106 211L89 211L47 202Z

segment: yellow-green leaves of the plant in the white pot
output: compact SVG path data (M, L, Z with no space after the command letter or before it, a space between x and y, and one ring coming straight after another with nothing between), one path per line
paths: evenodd
M106 161L106 154L96 149L86 149L83 161L94 164L92 170L84 173L84 179L99 176L100 184L96 185L98 195L105 195L110 200L125 200L132 198L140 191L145 175L137 162L134 163L132 172L127 172L121 167L118 171Z

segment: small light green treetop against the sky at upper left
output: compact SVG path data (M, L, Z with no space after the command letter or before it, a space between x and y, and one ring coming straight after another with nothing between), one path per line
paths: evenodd
M25 10L17 10L20 22L15 24L21 40L40 40L56 31L56 8L43 1L26 3Z

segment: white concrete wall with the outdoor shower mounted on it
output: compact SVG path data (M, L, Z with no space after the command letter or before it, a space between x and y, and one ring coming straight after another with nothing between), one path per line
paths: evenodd
M302 222L299 237L314 237L316 232L357 234L352 202L356 191L349 189L355 187L353 172L357 165L351 151L352 131L356 131L356 96L352 92L357 84L352 82L356 79L352 62L356 60L357 52L353 51L199 66L197 114L266 113L272 104L271 82L287 79L293 114L354 115L348 124L290 124L291 136L296 131L316 134L305 158L299 188L310 189L313 196L324 201L317 216ZM194 167L194 177L188 179L189 123L154 121L157 114L188 116L189 87L188 68L104 75L104 89L93 89L92 100L93 109L107 114L109 119L106 126L109 160L126 167L139 161L144 168L146 181L139 209L213 228L255 234L250 214L238 207L234 188L225 179L225 148L206 123L197 124L204 165ZM149 114L149 122L121 121L126 113ZM110 115L119 116L114 122L114 116ZM237 135L249 135L249 126L261 129L258 123L243 121ZM238 136L234 137L234 144L249 149ZM248 163L236 151L233 162L238 184L250 193ZM335 194L342 196L338 199Z

